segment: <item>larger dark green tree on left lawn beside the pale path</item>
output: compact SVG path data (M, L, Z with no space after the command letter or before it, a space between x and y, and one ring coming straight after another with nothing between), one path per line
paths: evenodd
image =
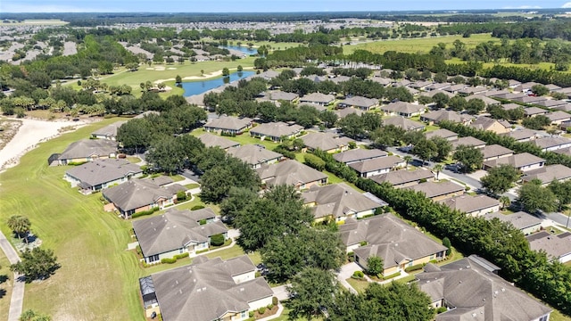
M29 283L33 280L44 279L54 274L60 268L57 257L52 250L43 250L39 247L21 253L21 261L10 266L12 272L19 273Z

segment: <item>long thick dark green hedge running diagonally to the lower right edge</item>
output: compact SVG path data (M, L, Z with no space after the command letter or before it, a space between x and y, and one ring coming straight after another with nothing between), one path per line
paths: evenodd
M445 122L444 124L448 126ZM453 130L451 127L447 129ZM478 132L476 129L474 131ZM455 132L459 136L474 134L464 135L458 131ZM499 144L500 141L513 141L510 137L486 135L497 138L493 144ZM481 136L475 137L486 141ZM509 148L509 146L506 147ZM553 154L552 152L542 154L548 153ZM349 169L347 165L335 161L327 153L316 151L315 154L326 161L327 170L338 177L345 178L346 170ZM567 159L571 165L571 158L567 157ZM378 185L370 179L361 177L355 179L354 183L361 190L373 193L385 200L394 210L410 218L419 226L425 227L432 234L441 238L447 236L459 251L475 253L484 259L491 260L501 268L501 276L509 282L516 283L525 291L533 293L538 299L549 303L553 308L571 315L571 295L569 295L571 293L571 268L560 264L558 260L550 262L544 252L532 251L525 236L517 228L496 219L468 217L466 213L451 210L441 203L431 201L423 193L396 189L386 183Z

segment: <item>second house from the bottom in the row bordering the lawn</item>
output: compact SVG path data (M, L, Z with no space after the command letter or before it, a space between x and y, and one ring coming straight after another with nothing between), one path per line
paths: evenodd
M223 235L228 239L228 228L214 218L210 209L203 210L167 210L161 216L139 219L133 222L133 231L143 252L145 263L161 262L172 259L178 254L208 250L213 235ZM204 224L201 224L203 221Z

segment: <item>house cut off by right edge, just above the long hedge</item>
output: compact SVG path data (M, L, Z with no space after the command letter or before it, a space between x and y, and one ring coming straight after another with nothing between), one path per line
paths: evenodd
M546 231L528 235L529 247L534 251L545 251L549 259L557 259L561 263L571 261L571 233L564 232L551 235Z

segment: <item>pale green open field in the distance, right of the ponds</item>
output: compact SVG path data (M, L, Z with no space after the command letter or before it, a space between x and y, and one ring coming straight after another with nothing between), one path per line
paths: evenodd
M477 34L470 37L445 36L445 37L424 37L411 39L381 40L359 45L344 45L343 53L352 53L357 49L368 50L372 53L385 53L387 51L396 51L402 53L428 53L434 45L443 43L451 47L452 43L459 40L466 44L468 48L476 47L476 45L486 42L500 42L500 38L492 37L490 34Z

